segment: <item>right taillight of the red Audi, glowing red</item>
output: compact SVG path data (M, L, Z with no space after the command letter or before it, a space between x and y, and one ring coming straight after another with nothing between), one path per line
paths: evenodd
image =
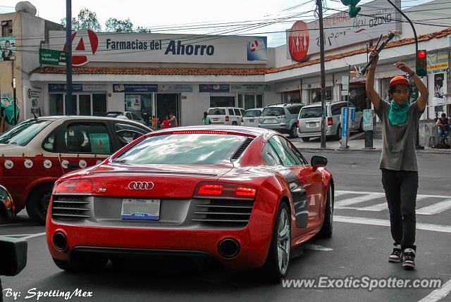
M228 184L217 182L201 182L194 190L194 198L245 198L254 199L257 196L257 188L243 186L242 184Z

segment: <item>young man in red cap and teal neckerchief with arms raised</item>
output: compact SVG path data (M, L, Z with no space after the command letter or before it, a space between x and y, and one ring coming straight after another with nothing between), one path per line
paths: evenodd
M416 163L416 130L421 114L428 103L428 89L406 63L395 63L396 68L414 80L419 98L409 104L409 80L404 76L390 81L390 103L383 101L374 90L374 73L378 54L371 52L373 63L366 76L366 94L383 127L382 156L379 168L390 213L390 230L394 242L389 262L401 262L406 270L415 268L416 191L418 165Z

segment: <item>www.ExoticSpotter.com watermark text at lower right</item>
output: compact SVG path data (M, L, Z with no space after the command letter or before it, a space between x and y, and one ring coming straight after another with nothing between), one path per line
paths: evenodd
M390 276L374 278L369 276L333 278L320 276L305 279L284 279L282 287L292 289L437 289L443 284L442 279L421 278L409 279Z

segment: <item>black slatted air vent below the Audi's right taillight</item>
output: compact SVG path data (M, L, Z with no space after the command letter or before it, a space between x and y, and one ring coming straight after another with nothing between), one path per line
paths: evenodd
M218 227L245 227L254 201L239 199L206 199L199 201L192 221Z

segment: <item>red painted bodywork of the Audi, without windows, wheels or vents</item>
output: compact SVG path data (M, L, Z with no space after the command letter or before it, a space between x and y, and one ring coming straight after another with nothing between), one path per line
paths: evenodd
M204 127L182 127L177 131L204 130ZM183 229L158 222L133 223L123 227L115 225L116 220L89 222L84 225L64 223L52 218L52 196L47 213L47 244L53 258L69 260L73 248L97 246L104 248L148 248L151 250L200 251L214 256L221 263L233 268L258 268L264 265L273 236L276 213L280 202L290 205L292 246L301 244L313 237L323 225L328 185L332 175L326 168L313 168L311 165L288 167L291 175L296 175L299 183L307 191L308 221L306 227L297 227L296 210L290 186L282 174L266 165L261 150L268 137L276 134L270 130L253 130L245 127L214 127L216 131L231 130L234 134L256 137L247 146L242 156L233 163L224 165L125 165L111 160L146 137L175 132L162 130L147 134L132 144L116 152L103 164L73 172L58 180L91 180L94 198L159 198L192 199L199 182L221 182L240 184L257 188L249 222L240 229ZM176 135L176 134L175 134ZM285 172L288 170L285 169ZM139 178L137 178L139 176ZM154 182L154 189L145 192L125 189L131 180ZM118 218L118 220L121 220ZM117 221L118 221L117 220ZM125 227L126 226L126 227ZM154 226L154 227L152 227ZM66 234L67 248L58 250L53 243L55 232ZM225 238L233 238L240 243L240 253L233 258L224 258L218 253L218 243Z

